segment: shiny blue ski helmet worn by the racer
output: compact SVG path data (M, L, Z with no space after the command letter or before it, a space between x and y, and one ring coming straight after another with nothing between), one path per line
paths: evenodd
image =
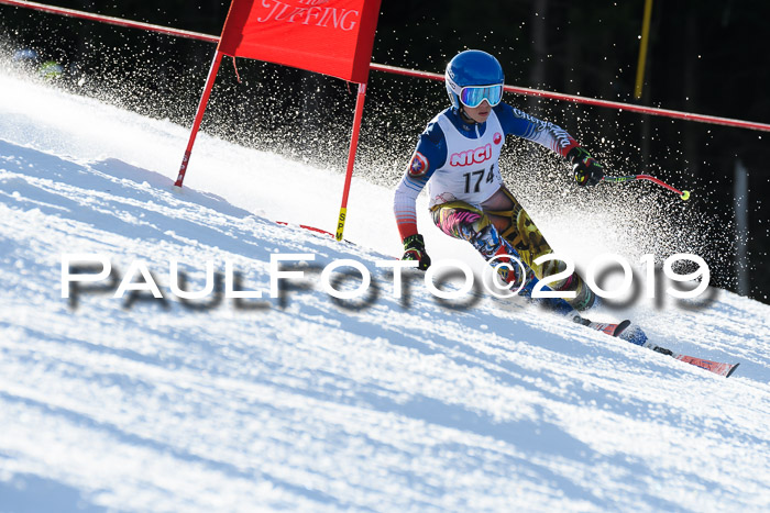
M462 88L505 83L501 64L493 55L481 49L466 49L455 55L447 65L444 79L447 93L455 109L461 107L459 94Z

